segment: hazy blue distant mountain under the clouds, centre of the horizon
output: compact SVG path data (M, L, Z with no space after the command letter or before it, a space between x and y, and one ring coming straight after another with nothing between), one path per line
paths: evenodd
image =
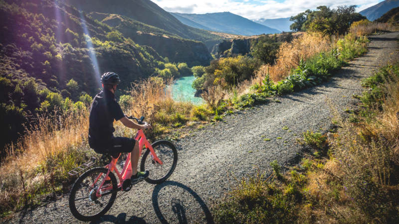
M210 31L245 36L259 35L263 33L280 33L280 31L277 29L261 25L231 12L216 12L206 14L186 14L172 12L171 14L186 25L195 25L198 28L206 27L206 29Z

